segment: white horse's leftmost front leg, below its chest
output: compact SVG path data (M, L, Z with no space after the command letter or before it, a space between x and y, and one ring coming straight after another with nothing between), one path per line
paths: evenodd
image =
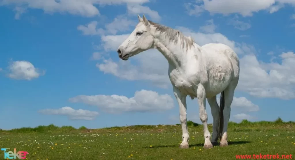
M179 148L189 148L189 131L186 124L186 95L182 94L175 86L173 92L179 105L179 116L182 128L182 142Z

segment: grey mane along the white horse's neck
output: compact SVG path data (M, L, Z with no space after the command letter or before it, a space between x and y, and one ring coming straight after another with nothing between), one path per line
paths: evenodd
M184 49L184 47L186 47L186 50L188 50L195 43L194 40L190 36L186 37L179 30L175 30L173 28L170 28L170 27L167 27L164 25L160 25L160 24L155 23L150 20L148 20L148 22L150 22L150 24L156 28L156 31L159 31L160 33L165 33L165 36L166 36L166 38L168 38L169 42L174 42L175 44L177 44L178 40L180 40L182 49Z

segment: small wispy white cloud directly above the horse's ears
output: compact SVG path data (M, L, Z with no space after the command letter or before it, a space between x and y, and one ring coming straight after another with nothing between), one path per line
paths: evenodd
M137 15L145 14L149 15L153 21L160 21L161 17L157 11L151 10L148 6L142 6L139 4L128 4L127 5L128 14Z

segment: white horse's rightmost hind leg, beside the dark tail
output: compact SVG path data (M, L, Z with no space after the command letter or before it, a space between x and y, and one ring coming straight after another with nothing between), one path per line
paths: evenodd
M220 110L219 110L219 139L220 146L227 146L227 125L230 120L231 104L234 97L237 81L232 81L230 85L223 91L224 95L220 97ZM224 109L222 110L222 108ZM223 115L223 117L222 117Z

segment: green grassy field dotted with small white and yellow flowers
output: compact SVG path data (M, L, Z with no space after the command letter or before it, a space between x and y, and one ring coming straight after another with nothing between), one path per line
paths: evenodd
M54 125L0 131L1 148L27 159L237 159L236 155L295 154L295 122L230 122L229 146L204 149L203 126L188 122L190 148L178 148L180 125L137 125L88 130ZM209 125L212 132L212 125ZM4 159L4 151L0 152ZM295 159L295 156L293 157ZM273 158L271 158L273 159Z

